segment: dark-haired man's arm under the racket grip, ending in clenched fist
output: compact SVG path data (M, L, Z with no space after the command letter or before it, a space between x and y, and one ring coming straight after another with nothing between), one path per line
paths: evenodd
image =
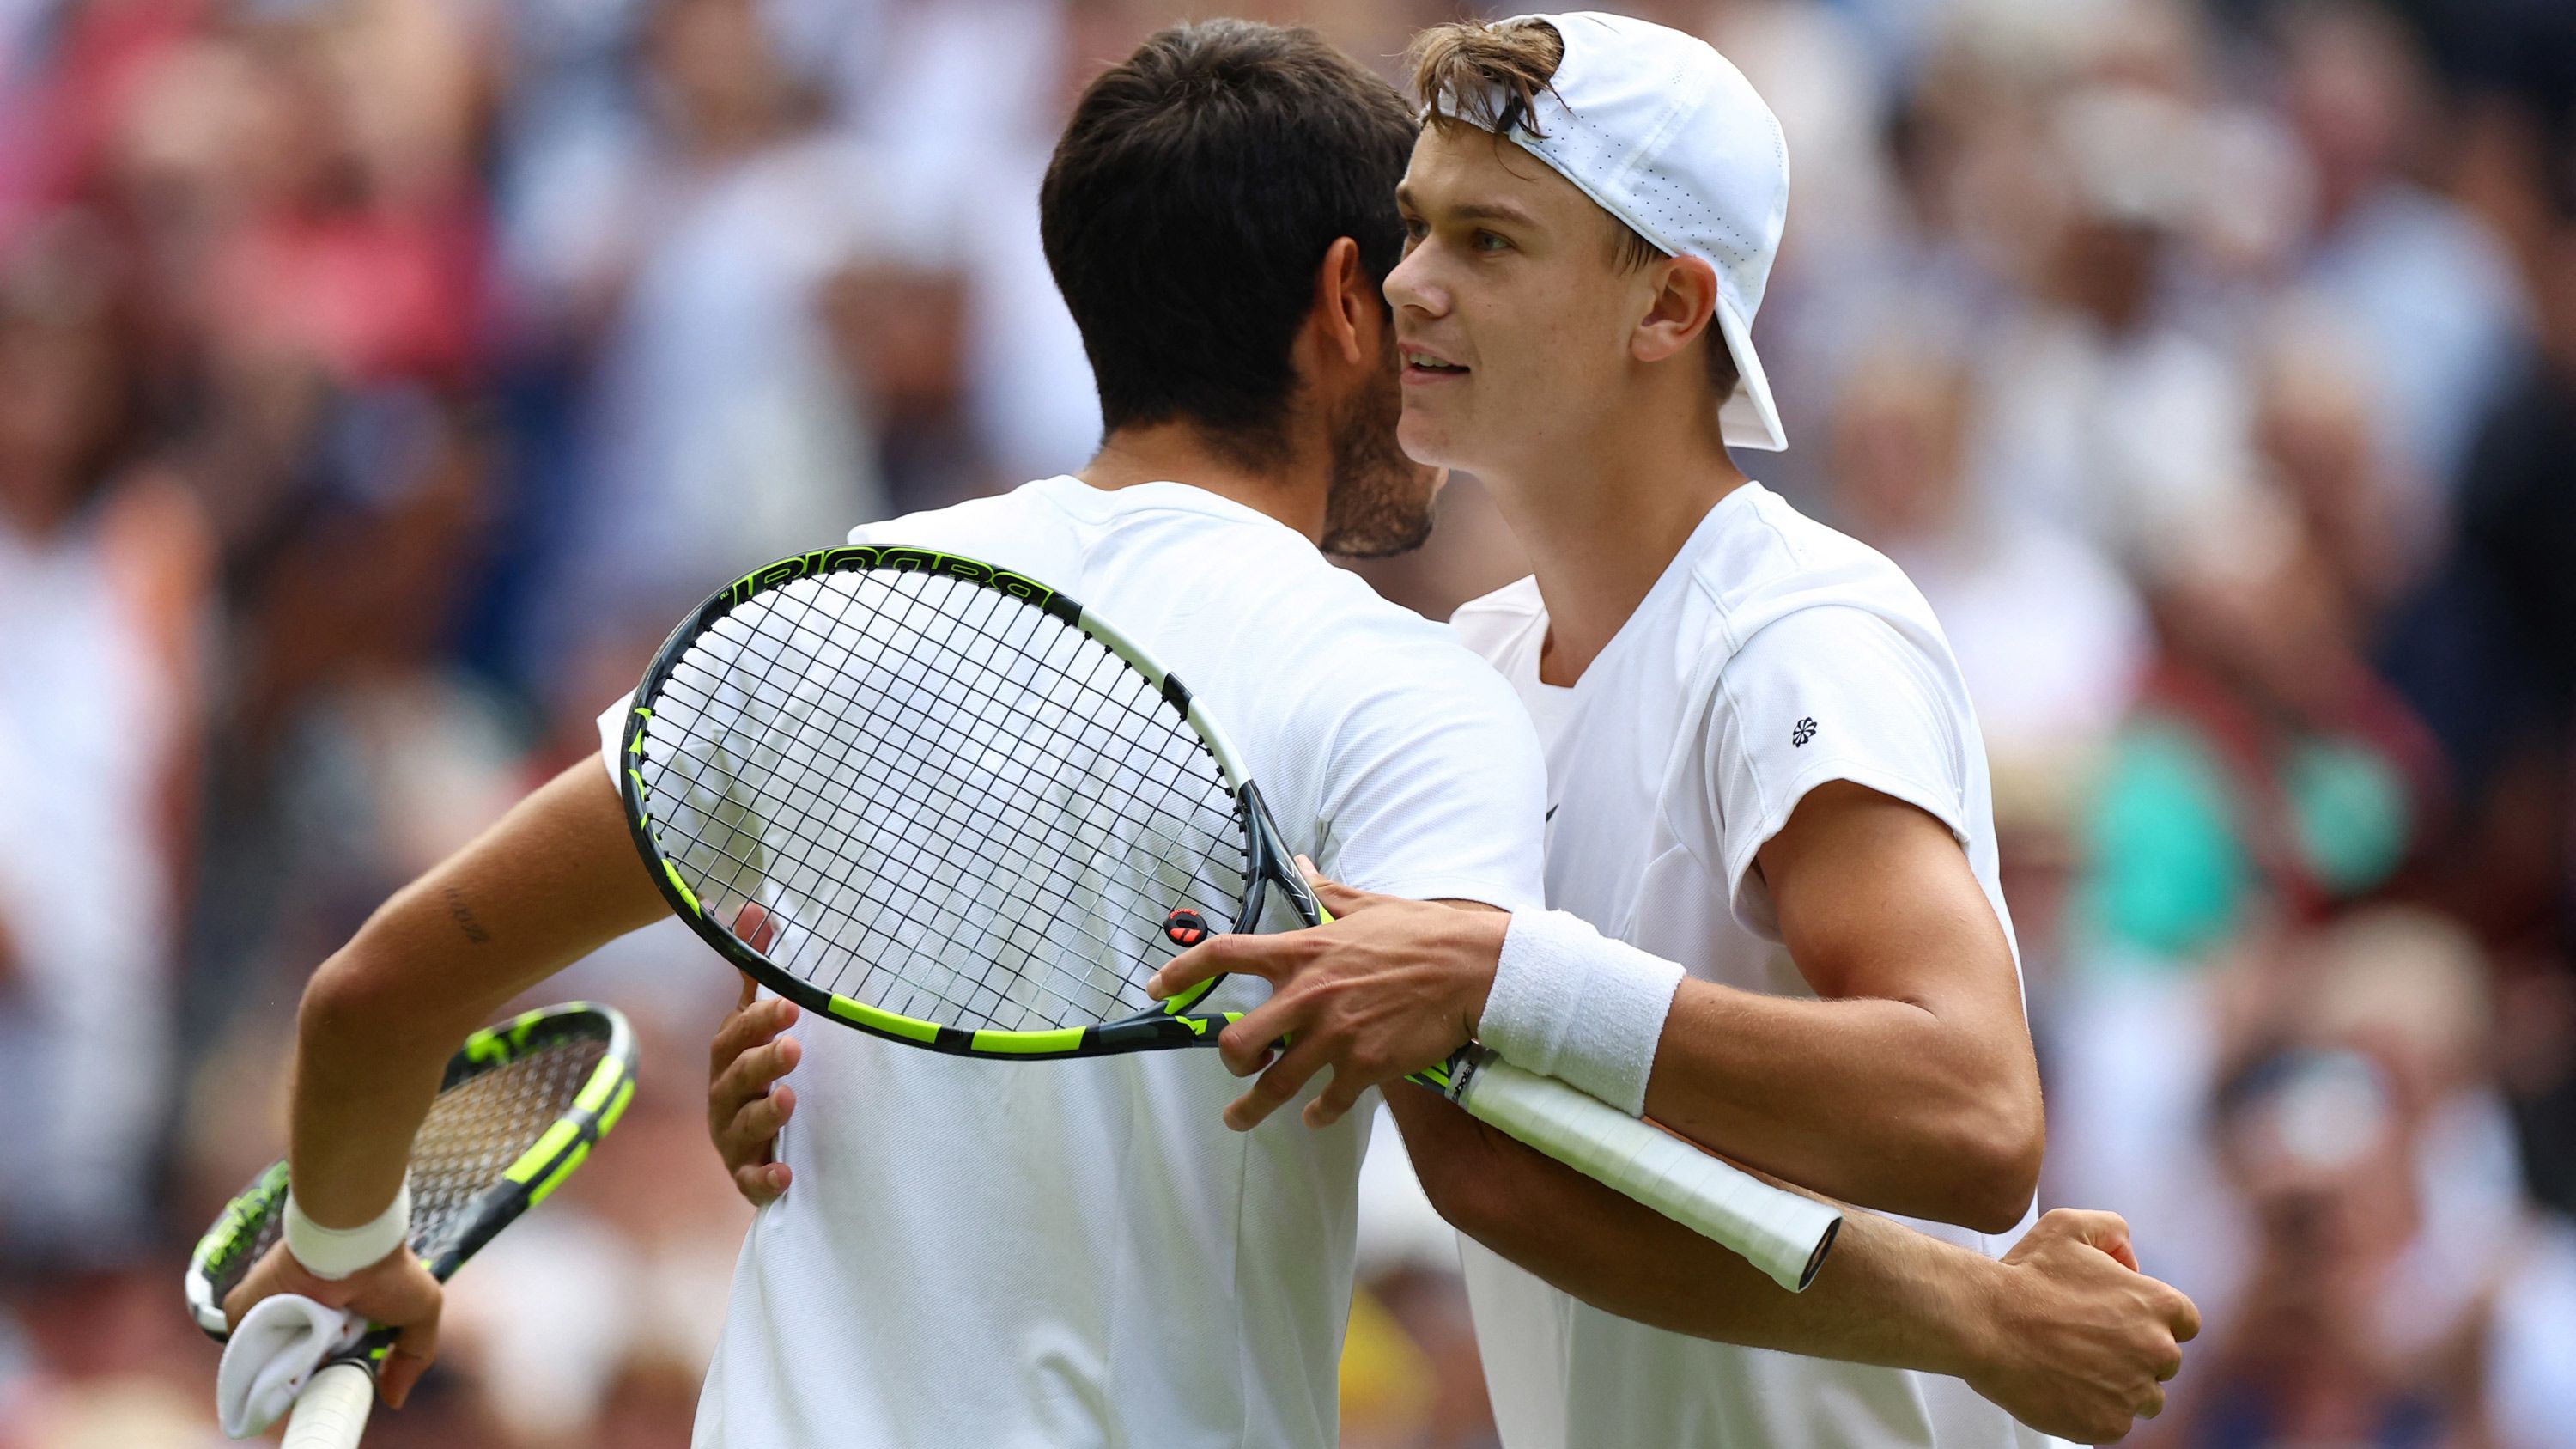
M1754 1348L1968 1379L2014 1418L2084 1444L2164 1405L2187 1297L2136 1271L2107 1212L2050 1212L2004 1261L1847 1212L1801 1294L1422 1088L1386 1101L1432 1207L1468 1238L1620 1318Z

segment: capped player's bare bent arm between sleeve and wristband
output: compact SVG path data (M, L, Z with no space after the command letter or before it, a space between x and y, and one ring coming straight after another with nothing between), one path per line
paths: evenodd
M1757 859L1819 1000L1685 980L1646 1116L1826 1196L2009 1232L2040 1176L2040 1073L1950 828L1837 781Z

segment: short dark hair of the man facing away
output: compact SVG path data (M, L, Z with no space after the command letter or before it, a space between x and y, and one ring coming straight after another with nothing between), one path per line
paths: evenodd
M1038 191L1056 289L1110 431L1185 418L1244 462L1285 446L1291 345L1337 237L1383 281L1414 116L1303 28L1172 26L1082 93Z

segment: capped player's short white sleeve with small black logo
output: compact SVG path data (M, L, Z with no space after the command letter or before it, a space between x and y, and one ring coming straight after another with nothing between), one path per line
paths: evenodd
M1705 807L1736 920L1780 938L1754 853L1811 789L1852 781L1968 843L1968 694L1947 647L1850 606L1798 608L1718 670L1703 740Z

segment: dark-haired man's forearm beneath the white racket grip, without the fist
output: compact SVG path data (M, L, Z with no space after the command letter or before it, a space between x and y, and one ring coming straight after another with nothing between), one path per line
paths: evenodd
M1718 1343L1937 1374L1965 1374L1981 1354L1996 1266L1965 1248L1852 1212L1824 1271L1793 1294L1422 1088L1391 1085L1388 1104L1443 1217L1602 1312Z

